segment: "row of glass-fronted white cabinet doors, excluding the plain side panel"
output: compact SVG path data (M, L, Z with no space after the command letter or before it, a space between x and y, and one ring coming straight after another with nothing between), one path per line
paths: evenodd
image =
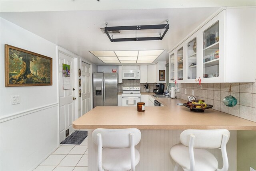
M224 18L216 16L170 52L176 83L224 82ZM174 60L173 60L174 58ZM170 82L173 71L170 73Z

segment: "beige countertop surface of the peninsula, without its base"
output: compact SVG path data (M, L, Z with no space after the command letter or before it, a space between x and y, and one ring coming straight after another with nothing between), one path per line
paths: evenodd
M140 130L226 128L228 130L256 130L256 122L213 109L207 109L205 112L191 112L189 108L177 105L177 103L185 103L185 100L155 99L164 104L164 107L147 106L145 112L138 112L137 107L97 106L75 120L73 128L138 128Z

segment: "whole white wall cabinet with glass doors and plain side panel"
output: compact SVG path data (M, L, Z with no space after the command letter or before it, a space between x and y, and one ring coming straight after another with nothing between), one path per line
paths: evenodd
M170 83L255 82L255 14L256 8L222 10L177 45L169 52Z

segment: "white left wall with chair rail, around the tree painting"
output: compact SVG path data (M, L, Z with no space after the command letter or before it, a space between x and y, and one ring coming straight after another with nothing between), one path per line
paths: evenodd
M31 170L58 147L57 47L2 18L0 31L0 170ZM4 44L51 57L52 86L5 87Z

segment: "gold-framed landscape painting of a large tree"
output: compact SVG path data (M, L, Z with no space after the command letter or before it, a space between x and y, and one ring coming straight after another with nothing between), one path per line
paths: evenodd
M5 86L52 85L52 58L5 44Z

